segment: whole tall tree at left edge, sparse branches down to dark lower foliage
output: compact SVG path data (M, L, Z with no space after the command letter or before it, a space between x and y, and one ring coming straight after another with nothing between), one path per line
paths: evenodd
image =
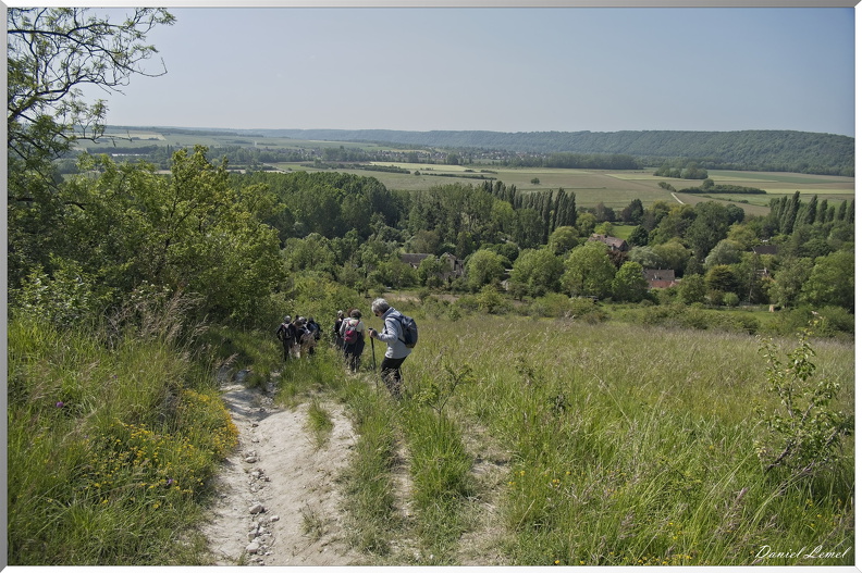
M9 282L35 269L51 271L51 253L67 248L65 219L81 210L59 196L51 161L78 138L103 133L103 101L86 103L82 88L119 91L156 49L144 43L164 10L139 9L121 24L81 8L7 11L7 221Z

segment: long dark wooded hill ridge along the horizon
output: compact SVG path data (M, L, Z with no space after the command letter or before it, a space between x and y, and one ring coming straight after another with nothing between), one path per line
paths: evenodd
M189 129L192 130L192 129ZM216 129L209 129L217 132ZM237 135L366 141L513 153L625 154L650 165L698 161L705 169L854 175L855 139L791 130L742 132L399 132L390 129L232 129Z

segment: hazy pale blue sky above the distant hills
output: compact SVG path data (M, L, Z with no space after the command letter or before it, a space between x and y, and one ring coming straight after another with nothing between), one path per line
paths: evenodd
M109 124L854 133L852 8L171 12Z

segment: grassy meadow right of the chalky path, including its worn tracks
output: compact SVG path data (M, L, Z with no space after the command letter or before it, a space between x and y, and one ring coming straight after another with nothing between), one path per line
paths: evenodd
M756 337L405 311L421 328L406 399L378 387L370 356L315 390L340 396L361 436L343 481L369 564L853 564L853 440L812 475L764 472L780 404ZM783 358L798 342L777 344ZM852 411L852 342L811 345Z

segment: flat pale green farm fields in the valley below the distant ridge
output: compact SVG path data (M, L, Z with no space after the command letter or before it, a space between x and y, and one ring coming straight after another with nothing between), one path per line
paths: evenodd
M260 149L324 149L345 148L362 149L367 151L392 150L390 146L368 142L320 141L300 140L276 137L254 137L253 135L212 135L209 133L177 134L170 130L160 132L158 128L134 128L121 130L111 128L108 136L120 139L106 139L101 144L82 142L83 149L91 152L110 152L116 148L141 147L164 145L172 147L192 146L195 144L210 148L210 155L218 157L219 147L226 146L256 146ZM133 139L130 139L133 138ZM405 151L401 149L399 151ZM565 189L574 192L579 207L595 207L604 203L615 210L628 205L633 199L640 199L644 207L656 201L669 203L685 202L697 204L702 201L722 200L734 202L752 215L768 213L769 200L776 196L800 192L803 202L813 196L818 200L838 203L845 199L853 199L855 179L853 177L805 175L797 173L766 173L748 171L711 171L710 177L716 184L739 185L764 189L766 195L685 195L670 192L658 187L662 182L669 183L677 189L700 186L699 180L673 179L652 175L653 169L632 171L602 171L602 170L570 170L570 169L529 169L529 167L501 167L496 165L442 165L428 163L394 163L377 162L373 165L396 166L408 170L409 173L386 173L380 171L345 169L345 173L360 176L374 177L392 190L416 191L428 189L436 185L453 183L480 185L484 176L493 180L501 180L505 185L515 185L519 190L547 190ZM273 167L290 171L320 171L304 166L301 163L274 163ZM331 171L331 170L327 170ZM532 183L539 179L539 184Z

